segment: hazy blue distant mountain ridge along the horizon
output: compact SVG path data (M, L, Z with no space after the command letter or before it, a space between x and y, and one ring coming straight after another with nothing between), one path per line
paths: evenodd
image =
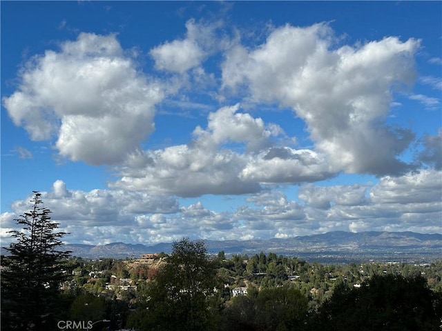
M331 261L382 258L421 259L431 257L442 260L442 234L416 232L345 232L334 231L287 239L262 239L247 241L206 240L211 254L275 254L304 257L314 261ZM143 245L141 243L108 243L106 245L66 244L72 255L88 259L111 257L115 259L137 258L141 254L171 252L172 243ZM5 251L2 248L2 253Z

